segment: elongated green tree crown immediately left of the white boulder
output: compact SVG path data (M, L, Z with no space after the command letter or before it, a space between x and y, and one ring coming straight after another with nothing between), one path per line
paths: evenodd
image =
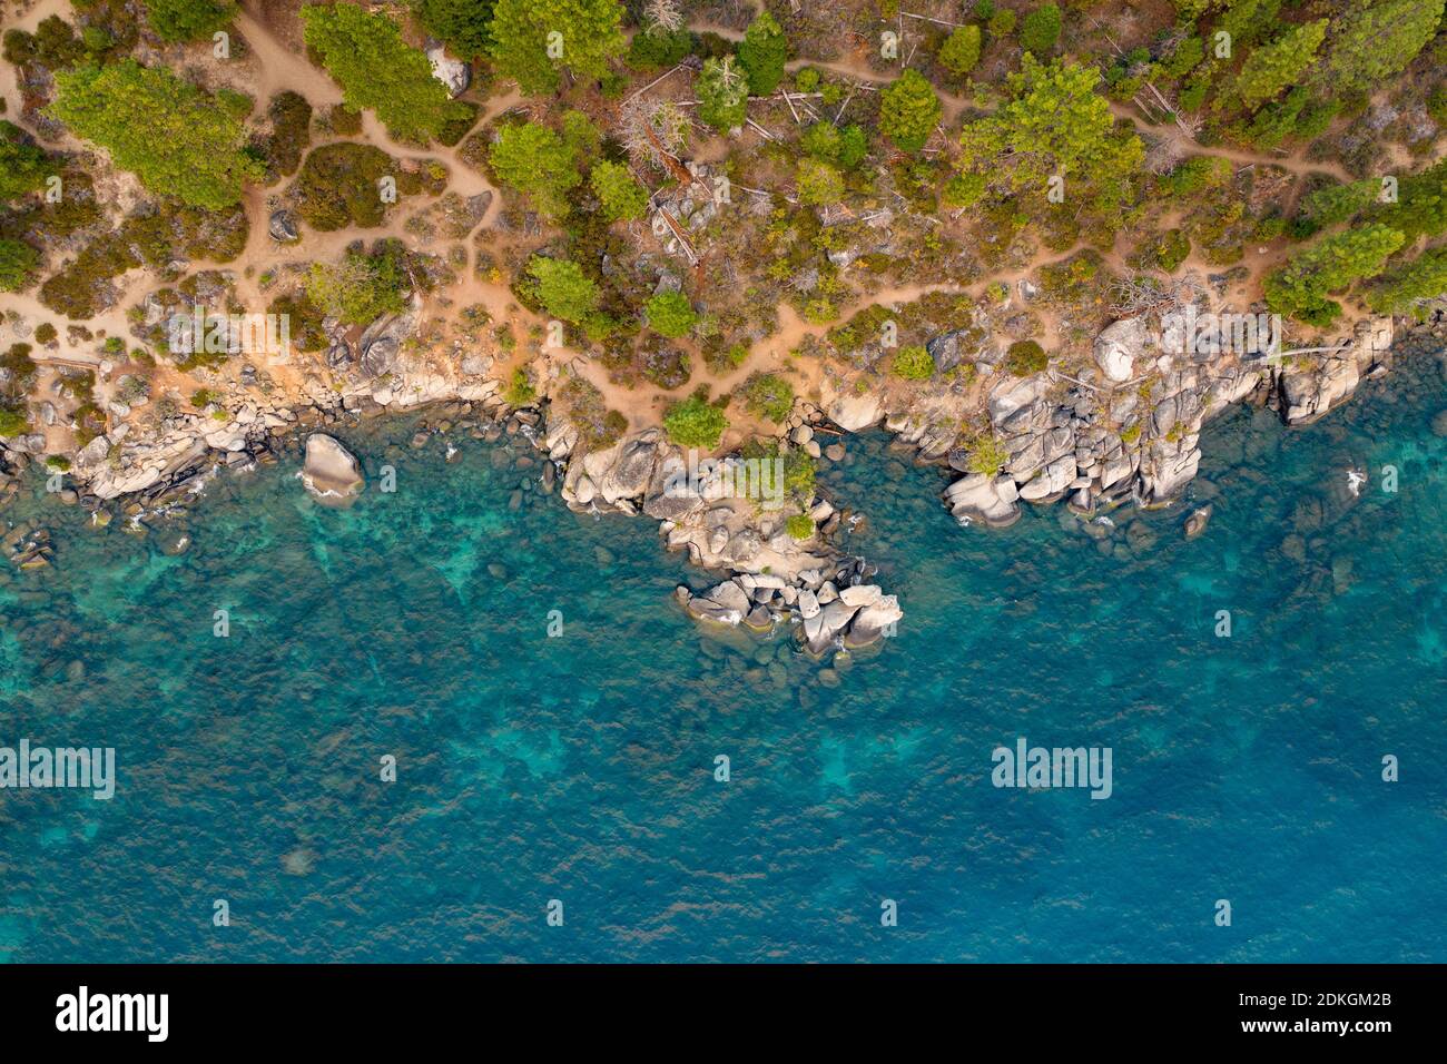
M301 20L307 48L321 56L347 106L370 107L394 136L427 142L464 113L433 77L431 61L385 14L353 3L304 4Z

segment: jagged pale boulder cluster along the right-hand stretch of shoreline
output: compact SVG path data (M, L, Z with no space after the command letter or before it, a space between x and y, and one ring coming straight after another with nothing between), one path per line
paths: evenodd
M1160 507L1195 478L1202 424L1252 397L1276 407L1288 424L1320 418L1363 376L1385 369L1392 321L1363 320L1351 337L1311 359L1242 350L1229 339L1195 337L1191 353L1179 353L1145 318L1124 318L1100 333L1094 366L1079 378L1051 369L1001 375L987 391L991 446L1000 449L993 472L993 462L955 446L955 421L915 407L891 411L877 391L831 394L828 414L851 431L883 421L923 459L961 472L945 504L962 524L1010 525L1022 501L1068 499L1081 514L1127 501Z

